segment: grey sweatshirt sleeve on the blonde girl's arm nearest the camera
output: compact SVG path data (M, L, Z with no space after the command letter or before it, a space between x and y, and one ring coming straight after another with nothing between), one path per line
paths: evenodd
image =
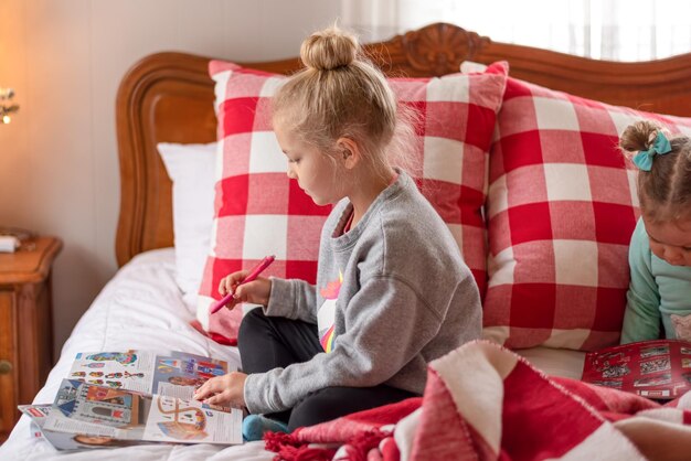
M436 335L445 315L404 280L385 276L371 277L344 312L348 331L337 336L330 353L247 376L245 403L251 412L291 408L325 387L384 383Z

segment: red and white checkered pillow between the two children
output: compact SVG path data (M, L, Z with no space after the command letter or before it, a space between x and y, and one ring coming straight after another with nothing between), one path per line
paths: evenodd
M509 78L490 151L486 337L513 349L618 343L639 211L617 144L641 118L691 132L689 119Z

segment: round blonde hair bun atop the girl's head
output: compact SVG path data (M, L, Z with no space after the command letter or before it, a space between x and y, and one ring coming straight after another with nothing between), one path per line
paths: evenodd
M309 68L331 71L355 61L359 49L354 35L334 26L307 37L300 47L300 58Z

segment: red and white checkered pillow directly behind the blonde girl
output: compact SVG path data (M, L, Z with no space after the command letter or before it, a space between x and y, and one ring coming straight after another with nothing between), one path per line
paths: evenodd
M481 289L487 280L488 151L506 87L508 67L442 78L395 78L403 104L419 115L411 174L447 223ZM269 98L285 76L212 61L219 118L214 234L196 317L204 330L234 340L242 311L209 315L225 275L266 255L276 261L266 276L315 282L321 226L330 207L316 206L288 180L285 156L270 128ZM217 336L215 336L217 337Z

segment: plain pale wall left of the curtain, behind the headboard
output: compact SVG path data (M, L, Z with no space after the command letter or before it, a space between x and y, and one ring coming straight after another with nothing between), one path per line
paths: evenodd
M332 22L323 0L0 0L0 86L21 111L0 125L0 225L60 236L56 353L117 269L115 95L158 51L237 61L295 56Z

